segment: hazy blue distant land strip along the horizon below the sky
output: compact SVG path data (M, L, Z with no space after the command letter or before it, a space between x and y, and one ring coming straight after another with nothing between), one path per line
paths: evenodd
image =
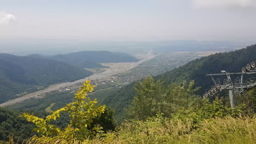
M0 39L0 53L14 55L57 55L73 51L119 51L125 53L154 53L177 51L234 51L254 41L80 41L68 39ZM20 51L22 49L22 51Z

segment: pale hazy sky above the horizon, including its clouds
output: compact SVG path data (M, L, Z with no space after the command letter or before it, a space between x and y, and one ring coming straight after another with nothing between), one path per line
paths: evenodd
M255 0L0 0L0 38L256 39Z

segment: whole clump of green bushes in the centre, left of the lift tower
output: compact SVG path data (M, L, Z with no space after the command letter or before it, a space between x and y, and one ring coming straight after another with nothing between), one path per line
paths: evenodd
M181 107L190 107L200 101L200 97L194 93L199 88L194 88L194 81L182 85L173 83L164 87L161 80L154 82L152 76L146 77L135 86L137 92L129 108L129 115L133 119L147 119L157 113L164 113L171 117Z

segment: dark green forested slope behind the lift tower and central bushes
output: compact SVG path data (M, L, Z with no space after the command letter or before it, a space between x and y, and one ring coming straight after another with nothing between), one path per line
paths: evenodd
M206 74L220 73L221 70L229 72L241 72L241 68L247 63L256 59L256 45L246 47L232 52L216 53L207 57L202 57L191 61L182 67L168 71L163 75L155 76L155 80L163 79L166 85L172 82L182 83L186 80L195 80L195 86L201 87L198 94L205 93L206 88L210 88L213 82ZM223 78L225 78L223 76ZM116 110L116 117L124 118L124 110L135 95L134 83L110 93L98 91L94 93L101 104L111 106ZM156 97L158 97L156 95Z

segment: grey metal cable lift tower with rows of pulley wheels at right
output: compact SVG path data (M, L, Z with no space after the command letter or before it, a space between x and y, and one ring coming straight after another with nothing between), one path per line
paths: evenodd
M234 95L240 95L256 87L255 77L250 77L249 81L243 80L244 74L256 74L256 62L247 64L245 68L242 68L242 73L229 73L225 70L222 70L220 74L207 74L206 76L211 76L214 85L211 89L206 89L206 93L203 94L203 98L212 97L216 95L219 91L228 90L229 91L229 100L232 108L235 107L235 98ZM220 83L220 79L214 79L214 76L225 75L226 79ZM232 80L230 75L240 75L236 79Z

